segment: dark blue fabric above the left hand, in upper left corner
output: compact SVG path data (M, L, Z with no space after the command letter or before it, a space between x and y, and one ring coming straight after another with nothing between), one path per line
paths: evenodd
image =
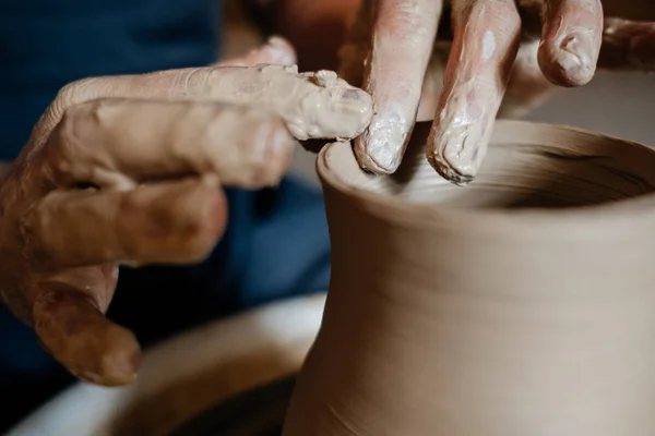
M0 0L0 159L67 83L213 62L219 12L217 0Z

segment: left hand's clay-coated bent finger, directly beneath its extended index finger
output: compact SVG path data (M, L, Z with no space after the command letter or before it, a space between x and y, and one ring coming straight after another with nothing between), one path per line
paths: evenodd
M276 184L296 142L276 116L212 102L103 99L74 106L50 136L47 173L60 186L215 174L224 185Z

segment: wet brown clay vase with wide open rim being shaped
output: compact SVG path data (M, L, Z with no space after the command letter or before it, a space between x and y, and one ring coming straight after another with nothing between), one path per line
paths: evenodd
M318 159L332 281L284 436L655 435L655 152L499 122L465 187Z

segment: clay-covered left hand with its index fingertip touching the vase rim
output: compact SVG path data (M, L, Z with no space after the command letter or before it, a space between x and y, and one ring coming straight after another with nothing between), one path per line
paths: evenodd
M134 377L138 341L104 315L119 264L202 259L221 185L274 185L297 138L366 128L370 97L330 73L238 66L294 60L274 41L231 66L88 78L38 121L0 185L0 295L73 374Z

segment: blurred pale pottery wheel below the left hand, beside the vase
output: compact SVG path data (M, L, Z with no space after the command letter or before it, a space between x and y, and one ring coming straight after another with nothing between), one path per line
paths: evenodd
M147 350L124 388L78 384L5 436L278 436L325 295L272 304Z

